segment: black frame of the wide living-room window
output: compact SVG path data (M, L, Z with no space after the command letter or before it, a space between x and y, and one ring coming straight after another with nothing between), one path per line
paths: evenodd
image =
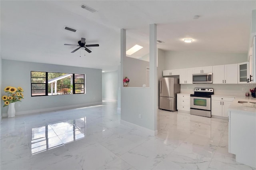
M32 77L32 72L42 72L42 73L45 73L46 77ZM31 92L31 97L36 97L36 96L58 96L58 95L48 95L48 73L60 73L60 72L49 72L49 71L30 71L30 92ZM72 85L73 85L73 88L72 88L72 94L60 94L60 95L76 95L76 94L86 94L86 91L85 91L85 74L81 74L81 73L65 73L65 74L72 74L73 78L72 78ZM83 83L75 83L75 75L83 75ZM45 78L46 81L45 83L32 83L32 78ZM45 85L45 89L32 89L32 85L33 84L44 84ZM83 89L84 92L83 93L75 93L76 92L76 84L82 84L83 88L77 88L77 89ZM33 90L45 90L45 94L44 95L32 95L32 91Z

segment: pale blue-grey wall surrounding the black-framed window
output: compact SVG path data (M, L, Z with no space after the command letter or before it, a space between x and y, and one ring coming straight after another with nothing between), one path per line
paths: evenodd
M16 114L34 113L56 108L102 104L102 70L64 65L31 63L2 59L2 87L14 86L24 89L20 107L15 105ZM86 94L31 97L30 71L85 74ZM8 107L2 109L7 113Z

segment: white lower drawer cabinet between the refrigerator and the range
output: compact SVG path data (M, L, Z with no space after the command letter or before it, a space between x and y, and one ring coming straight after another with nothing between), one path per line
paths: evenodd
M178 111L190 111L190 94L177 94Z

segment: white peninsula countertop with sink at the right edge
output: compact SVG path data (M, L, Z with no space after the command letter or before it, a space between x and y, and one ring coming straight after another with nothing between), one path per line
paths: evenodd
M255 107L244 107L242 103L238 103L238 101L249 101L249 102L256 102L256 98L253 97L236 97L234 101L230 104L228 110L229 111L243 111L248 113L254 113L256 115L256 108Z

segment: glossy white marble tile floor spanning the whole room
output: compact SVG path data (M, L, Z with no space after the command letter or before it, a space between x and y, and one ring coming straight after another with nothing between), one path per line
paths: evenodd
M120 124L116 103L0 124L1 170L255 170L228 153L228 121L158 110L158 135Z

